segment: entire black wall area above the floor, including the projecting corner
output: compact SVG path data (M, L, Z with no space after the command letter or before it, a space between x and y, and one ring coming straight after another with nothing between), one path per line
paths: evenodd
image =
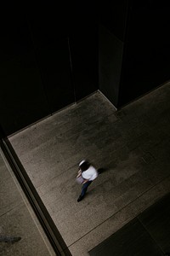
M96 90L121 108L169 79L167 3L102 2L3 3L0 122L6 135Z

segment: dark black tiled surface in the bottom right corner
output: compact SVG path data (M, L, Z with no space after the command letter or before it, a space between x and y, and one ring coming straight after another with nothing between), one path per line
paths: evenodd
M91 256L165 256L170 252L170 193L105 239Z

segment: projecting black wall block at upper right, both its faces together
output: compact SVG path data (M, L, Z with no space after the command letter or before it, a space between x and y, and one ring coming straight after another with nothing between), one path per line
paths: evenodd
M99 90L121 108L170 79L166 1L106 1L100 6Z

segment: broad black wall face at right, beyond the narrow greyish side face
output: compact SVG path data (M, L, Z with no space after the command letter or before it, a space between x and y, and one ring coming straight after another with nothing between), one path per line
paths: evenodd
M169 80L168 12L164 1L128 1L118 107Z

